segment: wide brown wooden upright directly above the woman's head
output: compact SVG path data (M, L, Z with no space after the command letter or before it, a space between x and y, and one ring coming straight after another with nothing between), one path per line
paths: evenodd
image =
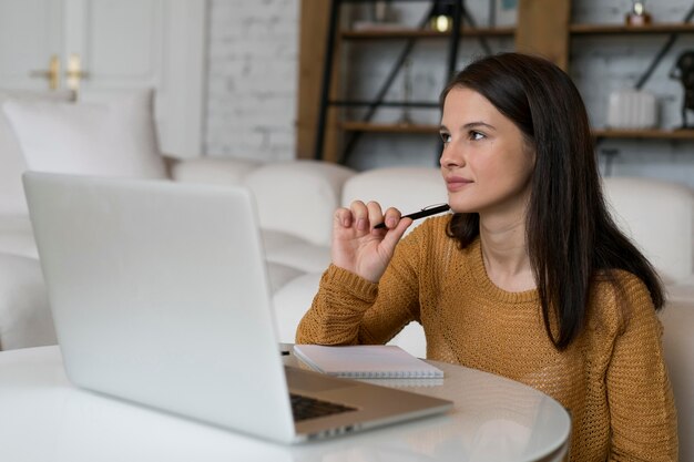
M516 50L569 69L571 0L519 0Z

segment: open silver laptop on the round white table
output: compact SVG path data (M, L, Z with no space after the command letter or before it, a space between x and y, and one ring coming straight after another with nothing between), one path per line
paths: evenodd
M279 442L451 408L283 366L245 188L48 173L23 181L74 384ZM294 415L292 401L306 398L336 413Z

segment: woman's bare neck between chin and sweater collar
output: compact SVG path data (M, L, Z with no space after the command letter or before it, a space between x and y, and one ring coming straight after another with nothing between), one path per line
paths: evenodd
M487 275L497 287L511 292L535 288L525 245L524 216L512 219L480 216L480 242Z

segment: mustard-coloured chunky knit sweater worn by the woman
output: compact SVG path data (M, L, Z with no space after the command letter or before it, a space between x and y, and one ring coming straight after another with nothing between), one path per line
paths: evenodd
M420 322L427 358L508 377L571 411L571 461L676 461L674 400L649 291L596 283L585 328L564 351L549 340L537 290L508 292L488 278L479 238L446 235L450 216L406 236L378 284L330 266L304 316L298 343L385 343Z

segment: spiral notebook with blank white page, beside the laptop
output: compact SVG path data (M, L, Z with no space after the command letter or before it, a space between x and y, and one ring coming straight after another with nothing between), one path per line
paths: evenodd
M442 370L394 345L295 345L294 353L309 368L328 376L355 379L443 377Z

